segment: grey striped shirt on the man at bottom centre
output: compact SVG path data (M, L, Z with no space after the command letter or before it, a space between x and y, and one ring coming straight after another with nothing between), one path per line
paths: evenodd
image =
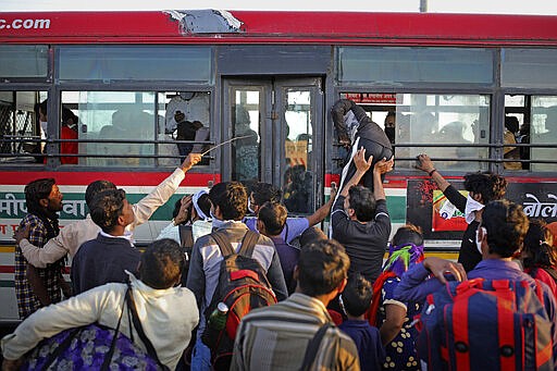
M332 323L320 300L295 293L274 306L251 311L242 320L231 370L299 370L309 342ZM359 370L354 341L337 327L326 331L311 370Z

